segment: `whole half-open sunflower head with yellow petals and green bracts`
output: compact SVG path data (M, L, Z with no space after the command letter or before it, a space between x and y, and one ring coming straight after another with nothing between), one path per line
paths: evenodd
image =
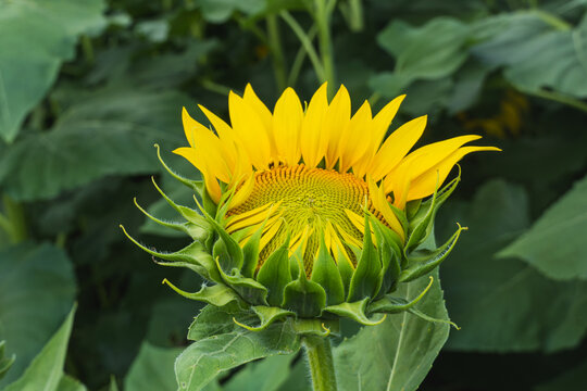
M323 85L305 109L288 88L271 112L247 86L242 97L229 94L230 125L200 106L210 122L204 126L184 109L189 147L174 152L203 180L163 164L193 189L199 207L177 205L162 192L186 222L148 216L193 242L171 254L141 247L162 264L214 283L188 293L170 282L179 293L254 312L260 324L247 328L290 316L372 325L380 314L410 308L429 285L408 302L391 295L398 283L438 266L463 229L439 248L424 244L460 176L444 182L467 153L497 149L465 146L479 137L460 136L412 151L426 116L386 137L403 98L374 116L365 101L351 115L345 87L328 102Z

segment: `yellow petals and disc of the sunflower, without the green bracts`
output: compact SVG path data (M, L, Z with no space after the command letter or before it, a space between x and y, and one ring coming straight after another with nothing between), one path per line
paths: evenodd
M184 109L189 147L174 152L202 173L221 225L241 247L261 229L258 269L287 240L289 256L300 254L308 276L322 241L338 265L354 269L366 211L405 243L408 228L398 216L407 203L432 195L464 155L498 150L465 146L480 138L469 135L410 152L426 116L386 137L403 98L375 116L365 101L351 115L347 89L328 102L324 84L305 110L286 89L272 113L248 85L242 97L228 97L230 125L200 106L209 128Z

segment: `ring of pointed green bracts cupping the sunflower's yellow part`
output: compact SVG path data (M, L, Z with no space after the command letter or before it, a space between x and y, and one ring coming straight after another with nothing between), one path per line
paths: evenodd
M341 317L362 325L377 325L387 314L408 311L427 320L446 321L433 319L414 308L414 304L430 288L432 277L430 283L415 298L395 297L394 292L399 283L427 275L438 266L465 229L459 226L453 236L437 249L426 245L436 212L457 187L460 175L428 200L410 202L405 213L394 209L398 219L407 227L404 244L390 228L365 209L364 225L367 229L363 236L362 249L353 249L355 268L345 263L337 264L322 237L311 275L307 276L307 273L300 272L304 269L301 248L288 254L289 235L258 266L263 227L257 229L245 245L240 245L238 232L229 235L223 228L226 211L222 202L221 207L217 207L200 181L180 177L165 163L163 165L174 178L195 192L198 209L176 204L154 180L155 188L185 222L164 222L137 206L155 223L185 232L192 242L179 251L164 253L129 238L153 255L158 264L188 268L208 281L199 291L186 292L165 279L164 282L177 293L217 307L236 305L240 308L241 314L228 317L227 321L260 331L274 321L291 318L297 332L322 336L336 331L337 320Z

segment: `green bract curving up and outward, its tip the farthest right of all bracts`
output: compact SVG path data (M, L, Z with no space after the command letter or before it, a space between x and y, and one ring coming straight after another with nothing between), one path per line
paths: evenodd
M428 250L419 250L412 253L408 257L408 267L403 269L399 276L400 282L409 282L414 280L434 269L436 266L440 265L442 261L446 260L448 254L457 244L457 240L461 236L461 231L466 229L466 227L461 227L450 237L449 240L438 249L434 251Z

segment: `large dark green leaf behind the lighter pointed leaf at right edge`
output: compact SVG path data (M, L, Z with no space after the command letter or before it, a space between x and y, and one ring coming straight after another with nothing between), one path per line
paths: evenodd
M494 180L470 204L453 202L441 211L439 232L449 235L454 220L470 228L441 269L447 307L462 327L447 348L554 351L585 336L587 282L557 282L526 263L495 257L528 227L527 209L522 188Z

